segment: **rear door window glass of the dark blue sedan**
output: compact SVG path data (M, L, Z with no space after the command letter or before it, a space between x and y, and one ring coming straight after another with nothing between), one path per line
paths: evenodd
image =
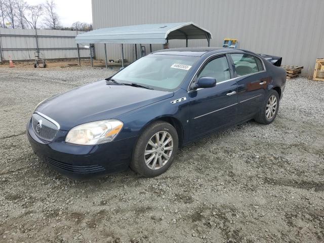
M243 76L264 70L262 62L248 54L230 54L236 69L237 76Z

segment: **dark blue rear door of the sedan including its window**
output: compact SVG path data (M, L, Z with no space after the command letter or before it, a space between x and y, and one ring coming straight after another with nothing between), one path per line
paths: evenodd
M270 78L257 56L248 53L232 53L229 56L235 67L237 114L240 120L244 120L253 117L263 104Z

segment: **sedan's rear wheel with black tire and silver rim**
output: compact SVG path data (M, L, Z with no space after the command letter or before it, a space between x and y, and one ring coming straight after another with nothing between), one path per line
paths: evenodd
M265 98L259 113L254 118L257 123L270 124L277 116L279 110L279 95L275 90L270 90Z

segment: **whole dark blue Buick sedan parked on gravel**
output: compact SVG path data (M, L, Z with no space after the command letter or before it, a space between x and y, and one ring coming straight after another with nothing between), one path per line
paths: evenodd
M272 123L286 84L280 58L274 59L223 48L157 51L40 103L28 139L69 177L129 167L158 176L179 146L250 119Z

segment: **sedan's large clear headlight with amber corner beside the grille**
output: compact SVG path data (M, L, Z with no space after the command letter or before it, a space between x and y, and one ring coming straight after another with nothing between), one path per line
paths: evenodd
M112 141L123 128L120 120L98 120L72 128L65 142L79 145L94 145Z

